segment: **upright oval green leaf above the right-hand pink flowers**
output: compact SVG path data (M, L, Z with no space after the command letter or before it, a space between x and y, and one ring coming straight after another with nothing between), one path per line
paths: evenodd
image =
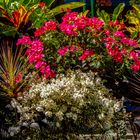
M112 20L115 21L117 20L118 16L120 15L120 13L123 11L125 7L124 3L120 3L113 11L113 15L112 15Z

